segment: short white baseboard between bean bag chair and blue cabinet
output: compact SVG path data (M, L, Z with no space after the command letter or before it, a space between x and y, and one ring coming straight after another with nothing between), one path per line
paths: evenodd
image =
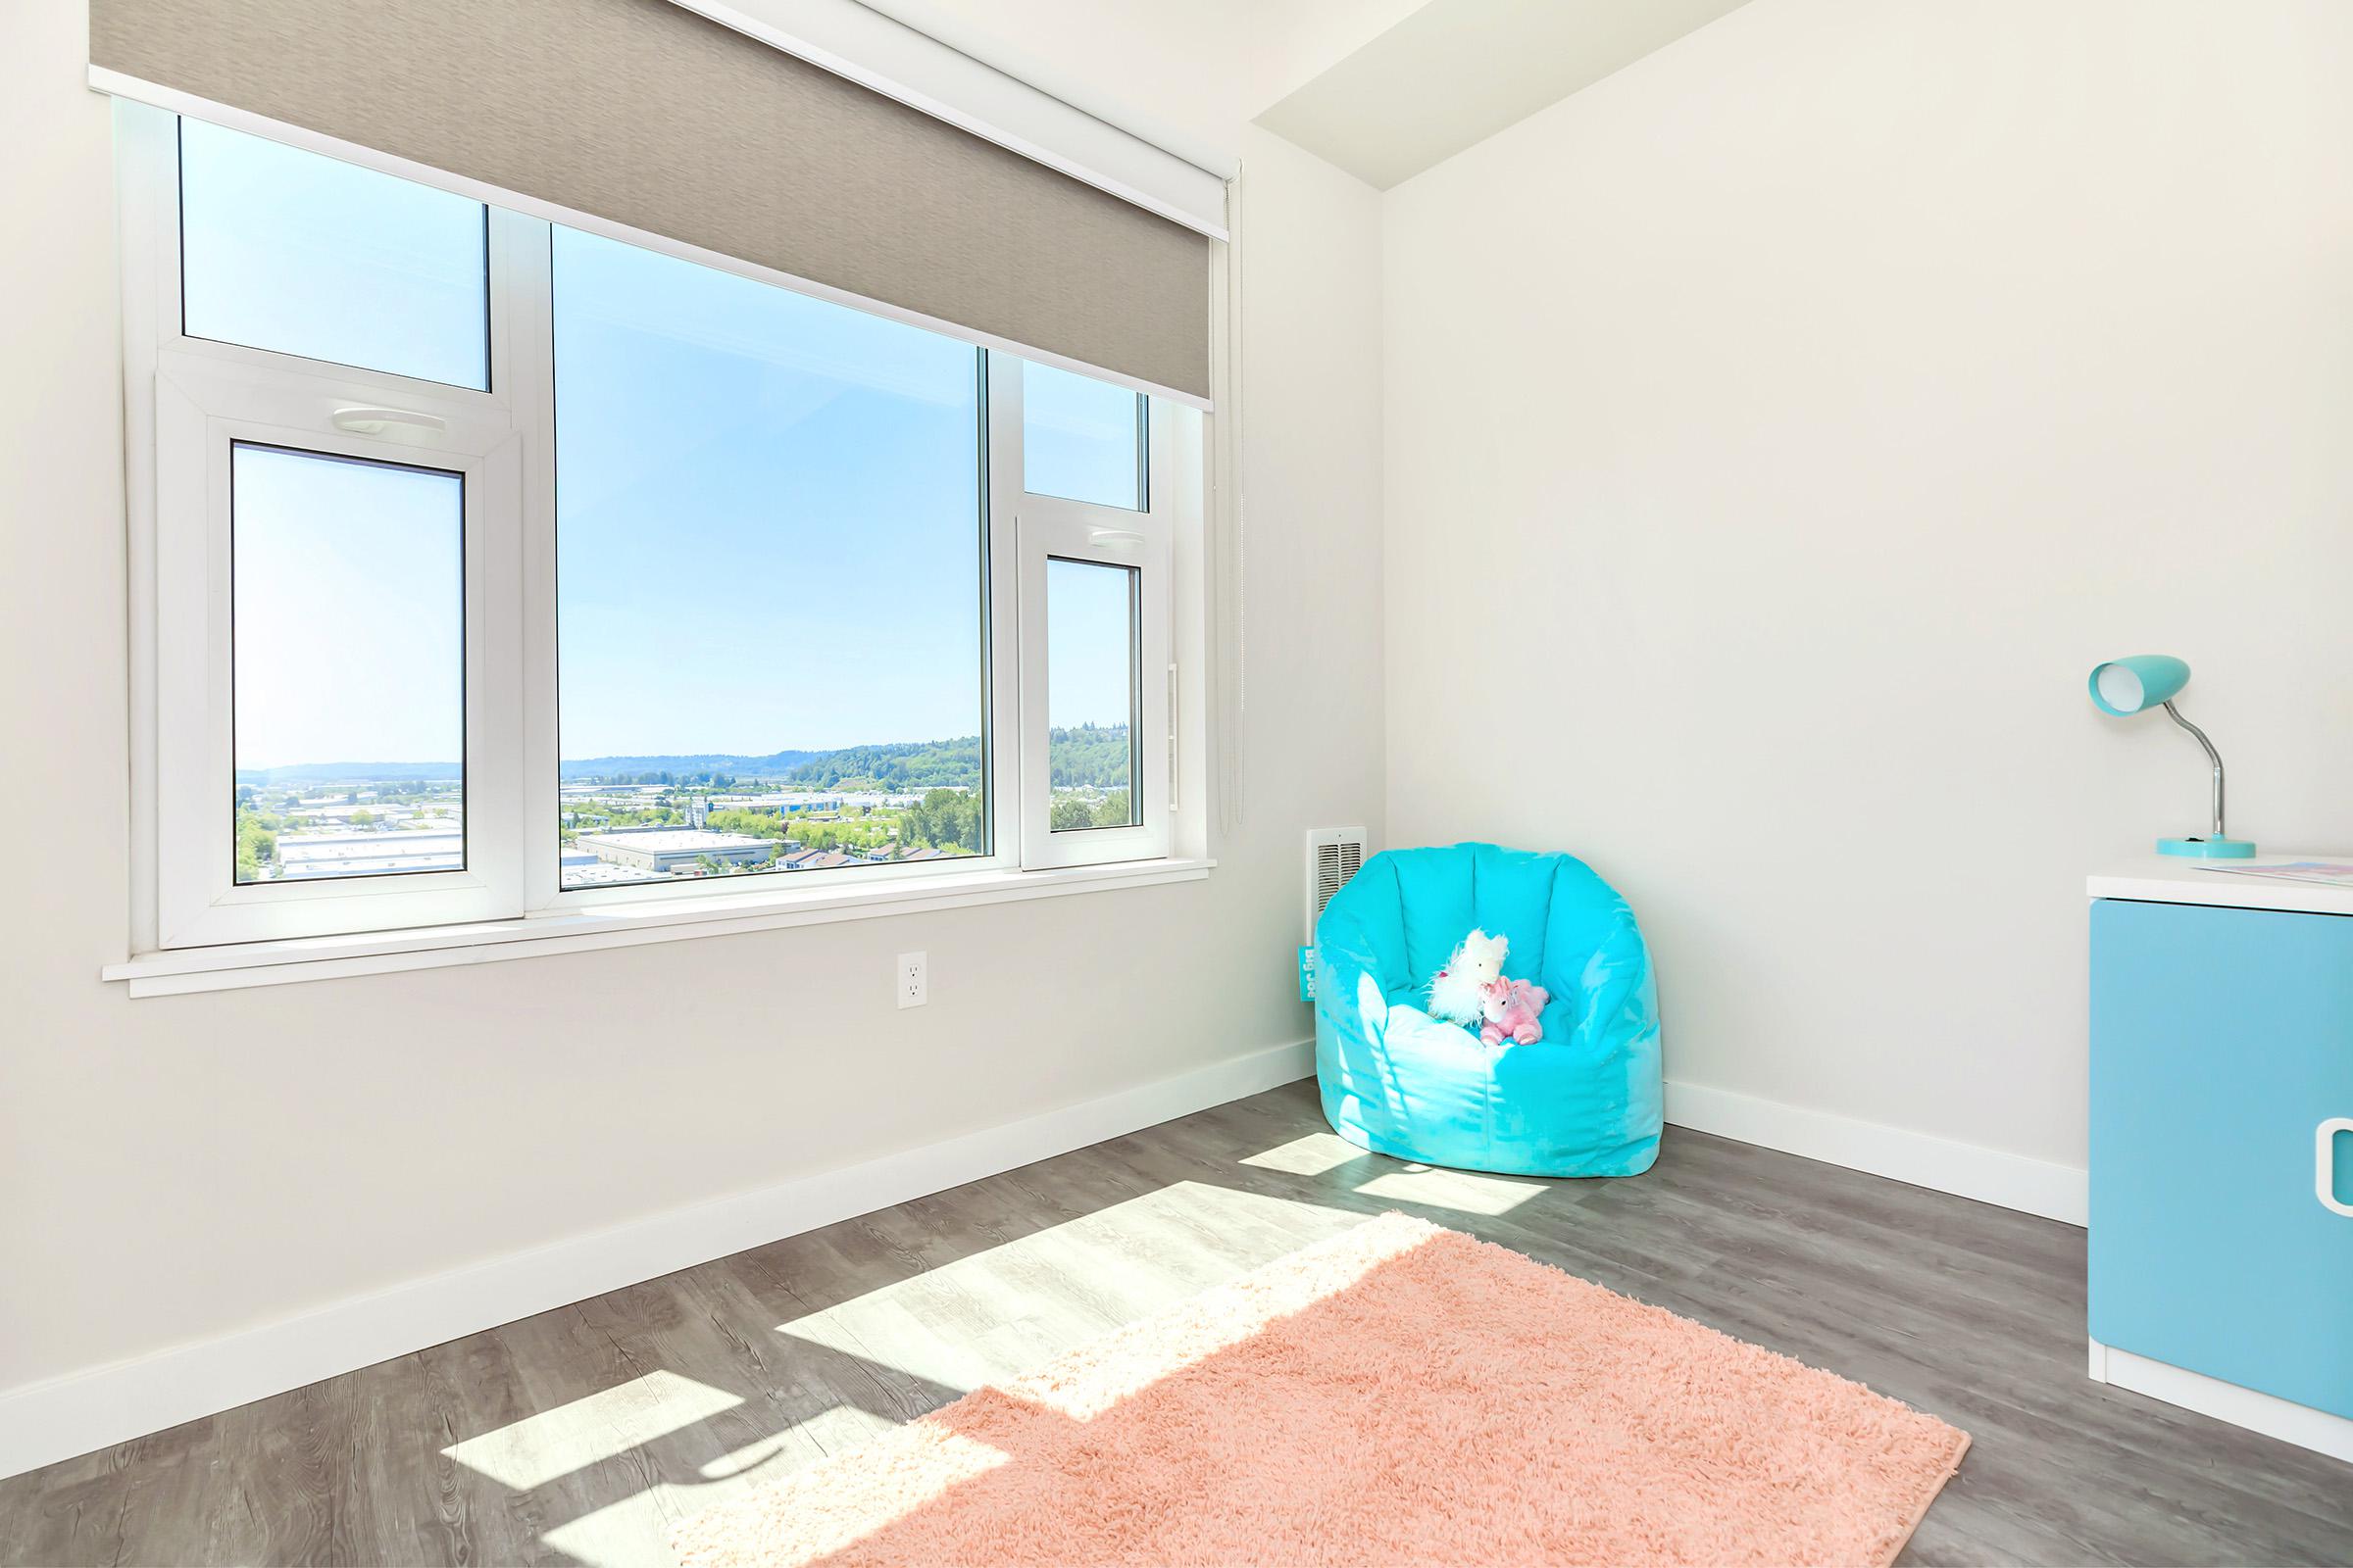
M2089 1220L2089 1185L2078 1166L1673 1079L1666 1084L1666 1119L1694 1133L1805 1154L1913 1187L2038 1213L2045 1220L2068 1225Z

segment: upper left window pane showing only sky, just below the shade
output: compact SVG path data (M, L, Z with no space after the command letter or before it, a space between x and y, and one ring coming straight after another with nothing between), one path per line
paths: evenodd
M181 331L489 388L482 202L179 122Z

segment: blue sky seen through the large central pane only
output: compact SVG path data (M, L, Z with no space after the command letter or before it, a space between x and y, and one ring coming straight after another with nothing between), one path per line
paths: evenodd
M555 230L562 752L981 722L967 343Z

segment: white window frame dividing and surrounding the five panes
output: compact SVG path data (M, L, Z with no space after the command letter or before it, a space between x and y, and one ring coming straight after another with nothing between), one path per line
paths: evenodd
M153 952L155 961L181 971L198 959L169 959L165 950L285 947L336 938L344 945L334 952L348 954L353 938L398 936L402 950L414 950L419 940L442 940L438 931L447 931L447 943L459 947L504 940L506 926L572 931L584 919L621 919L631 929L680 919L718 929L725 924L713 919L720 910L729 922L781 910L788 924L800 924L833 917L831 910L849 919L864 903L906 905L927 898L932 886L951 900L955 893L948 889L995 900L1021 896L1026 875L1040 891L1056 882L1056 872L1078 877L1068 882L1071 891L1134 884L1129 877L1080 877L1066 867L1101 865L1106 872L1151 877L1151 863L1169 875L1198 875L1195 867L1207 865L1200 858L1205 825L1198 804L1191 816L1179 811L1172 701L1174 649L1200 649L1193 623L1200 618L1205 416L1148 397L1148 496L1141 512L1031 496L1021 489L1024 362L1005 348L976 343L988 508L984 581L976 585L988 609L986 853L562 889L548 221L489 205L489 390L188 339L179 331L179 120L129 101L118 101L115 115L132 545L134 952ZM301 146L292 132L285 139ZM336 146L311 150L339 153ZM609 233L609 226L591 221L584 228ZM840 303L833 289L656 235L614 237ZM889 308L880 313L894 315ZM365 421L355 409L388 409L393 418ZM240 440L466 475L464 872L235 884L228 454ZM1099 541L1099 529L1127 538ZM1054 545L1056 538L1064 543ZM1024 569L1035 555L1042 588L1040 550L1104 550L1106 543L1113 552L1104 559L1144 569L1141 825L1049 835L1045 623L1038 592L1024 590ZM200 656L188 658L191 649ZM1200 776L1198 762L1188 776ZM1179 842L1193 858L1172 858ZM235 964L254 957L249 950Z

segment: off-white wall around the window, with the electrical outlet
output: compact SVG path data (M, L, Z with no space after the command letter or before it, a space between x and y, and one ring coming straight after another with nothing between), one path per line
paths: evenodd
M1207 882L151 1001L101 985L127 936L122 456L108 106L82 61L80 5L7 7L0 1392L1308 1034L1299 835L1381 820L1379 230L1367 188L1257 141L1249 649L1292 679L1252 686L1247 818ZM932 1001L901 1013L906 947Z

